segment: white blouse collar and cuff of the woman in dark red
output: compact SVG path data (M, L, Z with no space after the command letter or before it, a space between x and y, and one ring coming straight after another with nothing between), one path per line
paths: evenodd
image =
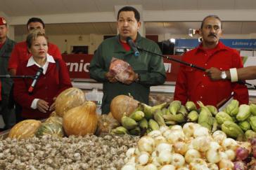
M34 61L34 58L33 57L30 57L30 59L28 59L28 62L27 62L27 67L28 66L33 66L33 65L37 65L39 67L41 67L44 71L43 71L43 74L45 75L46 74L46 71L48 69L48 66L49 66L49 62L51 63L55 63L55 60L53 59L53 57L49 54L46 55L46 63L44 64L44 66L40 66L39 64L37 64L37 62ZM44 77L45 78L45 77ZM48 87L45 87L45 89L47 89ZM31 108L33 109L37 109L37 102L39 101L39 99L34 99L32 101L32 104L31 104Z

